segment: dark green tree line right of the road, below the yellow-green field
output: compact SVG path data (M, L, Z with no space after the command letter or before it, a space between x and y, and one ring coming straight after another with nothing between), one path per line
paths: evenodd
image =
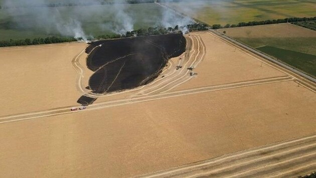
M213 24L213 29L219 28L233 28L233 27L241 27L241 26L254 26L254 25L263 25L263 24L274 24L274 23L287 23L287 22L297 22L297 21L309 21L316 20L316 16L314 17L293 17L293 18L284 18L284 19L273 19L273 20L262 20L262 21L249 21L249 22L240 22L237 24L226 24L222 26L221 24Z

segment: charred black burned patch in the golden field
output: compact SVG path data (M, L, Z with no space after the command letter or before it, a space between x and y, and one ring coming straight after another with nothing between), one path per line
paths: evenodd
M186 50L185 37L178 34L100 40L86 48L92 93L106 94L135 88L156 78L170 58ZM95 98L81 96L78 103L91 104Z

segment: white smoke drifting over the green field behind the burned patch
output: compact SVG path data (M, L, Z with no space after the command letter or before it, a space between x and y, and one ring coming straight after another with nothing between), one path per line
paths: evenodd
M139 12L131 9L131 4L122 3L122 1L124 0L119 2L113 0L114 3L111 5L101 5L103 0L56 0L56 2L51 0L3 0L0 1L0 3L2 2L0 5L10 7L6 8L10 15L8 24L14 29L39 31L39 33L43 34L44 32L48 35L60 34L75 38L82 37L84 40L92 37L96 28L98 28L99 34L104 34L102 33L104 30L124 34L126 31L134 30L136 23L138 24L137 28L142 27L142 23L147 24L147 27L149 27L148 24L151 24L150 26L175 27L176 25L184 26L193 23L190 17L185 17L173 9L164 7L159 8L159 12L155 12L157 15L151 15L151 17L144 15L139 19ZM87 2L93 5L49 7L52 6L52 3ZM194 9L186 6L184 2L180 3L182 4L181 13L190 11L192 14ZM104 20L104 17L109 20Z

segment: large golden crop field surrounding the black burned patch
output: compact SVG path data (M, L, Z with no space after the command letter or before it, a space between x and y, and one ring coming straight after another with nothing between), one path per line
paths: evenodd
M314 133L313 85L211 32L186 39L165 77L82 111L67 106L83 94L72 61L85 66L86 44L1 49L10 102L0 117L0 174L130 177ZM20 78L7 81L13 73ZM55 110L36 115L47 107Z

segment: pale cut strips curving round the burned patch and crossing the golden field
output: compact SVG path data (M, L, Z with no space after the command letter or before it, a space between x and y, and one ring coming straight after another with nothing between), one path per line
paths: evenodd
M226 43L228 43L229 45L234 46L233 44L229 43L228 41L225 41L224 39L222 39L220 36L217 36L217 35L211 34L211 33L209 33L209 34L224 41L224 42L226 42ZM191 89L170 92L171 89L177 87L178 85L180 85L184 82L187 82L188 80L190 80L192 78L192 76L188 75L189 70L186 69L186 67L189 67L191 65L193 65L193 66L198 65L205 57L206 46L203 43L201 37L199 35L190 35L190 36L188 36L188 38L190 40L188 41L187 54L185 56L185 59L182 60L182 63L185 62L185 64L183 65L183 68L181 70L176 70L175 63L172 60L169 60L170 65L167 67L167 69L165 69L163 71L163 74L166 75L166 77L157 78L156 80L152 81L151 83L149 83L147 85L143 85L143 86L138 87L138 88L125 90L125 91L121 91L121 92L109 93L106 95L97 95L97 94L90 95L91 93L88 93L85 90L84 85L82 83L84 71L82 69L83 67L80 65L80 62L79 62L79 58L85 50L81 51L76 57L73 58L72 64L73 64L74 69L78 73L77 88L82 93L87 94L90 97L100 97L100 96L106 97L106 96L112 96L115 94L120 94L123 92L130 93L130 96L128 98L108 100L108 101L104 101L104 102L94 103L94 104L89 105L86 110L98 109L98 108L103 108L103 107L111 107L111 106L128 104L128 103L135 103L135 102L143 102L143 101L147 101L147 100L155 100L155 99L159 99L159 98L180 96L180 95L185 95L185 94L209 92L209 91L216 91L216 90L222 90L222 89L230 89L230 88L258 85L258 84L283 82L283 81L289 81L289 80L293 80L295 82L298 82L301 85L305 86L306 88L312 90L313 92L316 92L314 90L314 88L310 88L310 87L308 87L309 85L306 86L306 85L304 85L304 83L301 83L300 80L295 77L295 75L290 75L286 71L279 69L278 66L273 66L268 61L263 61L263 62L265 62L266 64L268 64L274 68L277 68L278 70L284 72L286 75L272 77L272 78L261 78L261 79L240 81L240 82L234 82L234 83L225 83L225 84L219 84L219 85L209 85L209 86L203 86L203 87L198 87L198 88L191 88ZM243 52L247 53L247 51L243 51ZM262 59L259 59L257 57L256 57L256 59L262 61ZM42 111L1 116L0 123L72 113L74 111L70 111L70 108L77 107L77 106L78 105L65 106L65 107L42 110ZM75 111L75 112L78 112L78 111Z

